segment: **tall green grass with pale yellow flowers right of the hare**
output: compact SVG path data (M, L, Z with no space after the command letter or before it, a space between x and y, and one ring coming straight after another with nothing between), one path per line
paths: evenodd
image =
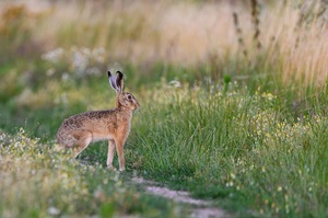
M237 84L164 90L143 96L130 142L144 176L239 215L327 216L325 111L294 119L278 96Z

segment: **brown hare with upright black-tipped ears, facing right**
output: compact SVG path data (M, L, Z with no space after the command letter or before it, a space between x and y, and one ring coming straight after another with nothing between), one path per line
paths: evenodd
M107 167L114 169L116 147L119 171L125 171L124 145L130 131L132 111L139 108L139 103L131 93L124 92L124 74L120 71L117 71L117 77L108 71L108 79L116 91L116 107L66 118L58 129L57 141L66 148L73 148L77 158L90 142L108 140Z

